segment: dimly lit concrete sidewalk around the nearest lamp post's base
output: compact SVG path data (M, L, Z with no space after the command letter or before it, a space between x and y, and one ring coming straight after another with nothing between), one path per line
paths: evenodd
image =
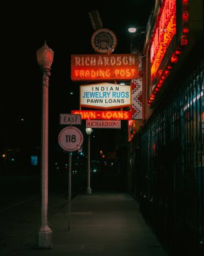
M1 256L167 255L142 218L138 203L127 193L78 195L71 201L70 219L67 199L51 195L48 201L52 249L34 249L40 226L40 198L35 197L11 214L0 213Z

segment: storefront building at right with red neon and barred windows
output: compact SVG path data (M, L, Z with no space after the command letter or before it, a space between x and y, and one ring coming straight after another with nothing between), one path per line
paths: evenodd
M203 1L156 1L143 55L143 122L130 144L129 188L169 255L203 255Z

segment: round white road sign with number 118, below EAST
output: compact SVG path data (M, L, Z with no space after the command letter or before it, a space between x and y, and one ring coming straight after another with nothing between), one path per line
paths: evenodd
M69 126L60 131L58 142L66 151L75 151L81 148L83 143L83 134L77 127Z

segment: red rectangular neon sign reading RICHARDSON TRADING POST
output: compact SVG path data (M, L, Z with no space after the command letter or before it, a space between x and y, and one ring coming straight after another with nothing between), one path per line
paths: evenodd
M72 81L138 78L138 54L71 55Z

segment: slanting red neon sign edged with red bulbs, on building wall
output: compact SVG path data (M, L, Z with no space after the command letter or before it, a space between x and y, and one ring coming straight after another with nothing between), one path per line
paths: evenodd
M170 54L167 55L176 34L176 0L162 2L157 16L152 44L150 48L152 93L148 104L152 104L156 94L170 74L172 67L178 61L184 47L188 44L189 36L189 0L183 0L182 34ZM166 55L165 55L166 54ZM165 56L164 56L165 55ZM163 66L163 67L162 67Z

